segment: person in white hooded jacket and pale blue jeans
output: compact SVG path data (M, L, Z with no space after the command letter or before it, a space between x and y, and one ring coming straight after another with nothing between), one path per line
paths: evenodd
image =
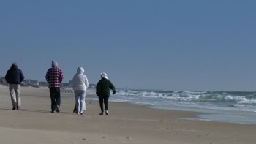
M78 67L72 80L72 88L75 92L74 112L80 115L83 115L83 110L86 110L86 89L89 87L88 79L83 72L83 67Z

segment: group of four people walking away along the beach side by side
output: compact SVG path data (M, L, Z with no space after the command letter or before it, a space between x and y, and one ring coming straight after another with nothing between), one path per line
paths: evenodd
M108 115L108 99L110 96L110 89L113 94L116 94L115 86L108 80L108 75L105 72L101 74L101 80L97 83L96 94L99 97L99 106L101 113L99 115ZM61 107L61 82L64 79L62 70L58 67L56 61L52 61L50 69L46 72L45 79L48 82L51 100L51 113L59 113ZM23 72L18 68L17 63L12 63L12 66L5 75L5 80L9 83L9 91L12 99L12 110L19 110L21 106L20 101L20 83L24 80ZM72 88L75 94L75 108L74 113L83 115L86 110L86 89L89 87L89 81L84 75L83 67L78 67L76 74L72 79ZM103 106L104 104L104 106Z

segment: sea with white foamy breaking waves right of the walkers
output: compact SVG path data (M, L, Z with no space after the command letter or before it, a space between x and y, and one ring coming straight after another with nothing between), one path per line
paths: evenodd
M94 92L94 91L93 91ZM211 91L143 91L117 89L113 102L129 102L156 107L189 107L200 110L255 111L256 96L253 93Z

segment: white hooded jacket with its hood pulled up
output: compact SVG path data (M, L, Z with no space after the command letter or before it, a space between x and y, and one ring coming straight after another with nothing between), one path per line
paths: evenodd
M86 75L83 75L83 72L84 72L83 67L78 67L77 73L74 75L72 80L72 87L74 91L76 90L86 91L86 89L89 87L88 79Z

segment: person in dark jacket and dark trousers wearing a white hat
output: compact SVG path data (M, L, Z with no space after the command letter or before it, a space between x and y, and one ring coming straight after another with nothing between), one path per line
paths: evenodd
M99 97L99 106L102 110L99 115L103 115L104 113L103 103L105 105L105 114L108 115L108 99L110 96L110 89L112 90L113 94L116 94L116 89L110 80L108 80L108 75L105 72L102 72L100 75L101 80L99 80L96 86L96 94Z

